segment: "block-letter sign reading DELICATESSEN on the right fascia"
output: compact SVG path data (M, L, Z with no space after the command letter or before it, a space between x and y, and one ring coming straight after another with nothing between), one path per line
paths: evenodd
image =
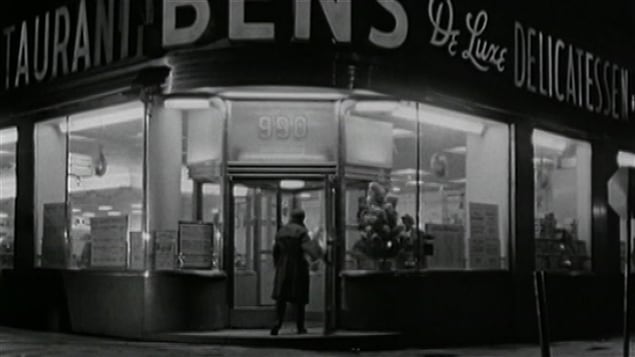
M628 120L629 71L560 38L514 24L514 85L614 119Z

